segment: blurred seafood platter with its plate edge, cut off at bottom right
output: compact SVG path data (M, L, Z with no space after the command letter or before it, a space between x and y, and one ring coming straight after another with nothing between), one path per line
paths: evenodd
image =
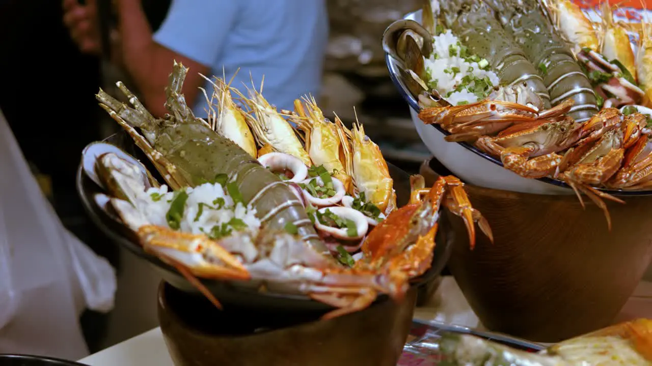
M427 328L406 344L398 365L652 365L652 320L645 318L548 347L457 328Z

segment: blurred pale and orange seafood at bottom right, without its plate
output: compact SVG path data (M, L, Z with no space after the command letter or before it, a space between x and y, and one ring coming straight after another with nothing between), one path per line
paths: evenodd
M447 365L652 365L652 320L616 324L530 353L474 335L446 334L437 342Z

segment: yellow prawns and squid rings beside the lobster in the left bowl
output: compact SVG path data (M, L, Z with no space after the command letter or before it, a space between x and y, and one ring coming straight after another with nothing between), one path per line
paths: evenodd
M211 127L287 182L309 217L316 218L319 236L350 261L348 253L359 253L368 231L396 208L387 162L363 126L349 130L337 116L331 122L310 96L295 100L295 111L279 113L253 87L247 88L248 97L224 79L209 81Z

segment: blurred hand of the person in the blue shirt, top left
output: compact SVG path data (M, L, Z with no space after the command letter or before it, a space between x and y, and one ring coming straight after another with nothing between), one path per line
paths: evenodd
M97 22L95 0L63 0L63 23L70 37L83 53L100 54L100 31Z

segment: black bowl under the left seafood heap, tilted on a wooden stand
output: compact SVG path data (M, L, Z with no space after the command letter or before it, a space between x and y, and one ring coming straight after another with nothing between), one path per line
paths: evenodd
M141 152L140 148L136 147L134 141L128 134L126 134L126 132L119 132L118 134L111 135L105 139L104 142L115 145L140 160L140 162L149 169L152 175L155 176L159 182L163 182L151 162L147 160L145 154ZM192 286L183 275L179 274L175 268L166 264L154 255L146 253L143 250L143 247L138 243L138 240L136 240L134 234L130 232L123 223L100 208L96 203L94 196L97 193L104 193L104 191L84 173L82 163L80 163L77 172L77 190L82 198L82 203L87 214L91 217L95 225L97 225L100 230L110 238L110 240L153 264L158 273L162 275L163 279L173 287L199 295L200 292ZM408 203L409 200L409 175L394 165L388 163L388 166L389 172L394 179L394 190L396 190L397 204L398 206L402 206ZM446 221L445 215L439 215L439 231L437 232L436 238L437 246L434 249L432 265L425 274L411 281L411 284L414 286L421 287L421 285L426 285L426 283L432 281L432 279L443 270L443 267L451 254L450 249L453 238L452 234L450 234L451 231L449 228L450 225ZM253 287L246 281L218 281L213 279L200 279L200 281L218 300L220 300L222 304L225 305L225 307L226 305L231 304L256 309L261 307L296 309L297 311L327 311L328 309L332 309L330 305L316 302L303 294L259 292L256 287ZM385 297L387 296L381 295L378 300Z

